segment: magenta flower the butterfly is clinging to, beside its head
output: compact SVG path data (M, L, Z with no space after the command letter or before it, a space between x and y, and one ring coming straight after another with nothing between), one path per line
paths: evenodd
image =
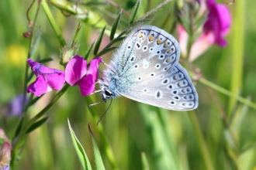
M65 69L65 80L71 86L78 85L82 96L88 96L95 91L95 82L99 76L99 63L102 58L92 59L89 69L87 62L81 56L74 56Z

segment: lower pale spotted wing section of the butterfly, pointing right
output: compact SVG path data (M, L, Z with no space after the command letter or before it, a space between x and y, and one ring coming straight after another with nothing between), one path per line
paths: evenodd
M198 107L198 95L186 70L179 64L168 73L130 87L121 93L132 100L169 110L193 110Z

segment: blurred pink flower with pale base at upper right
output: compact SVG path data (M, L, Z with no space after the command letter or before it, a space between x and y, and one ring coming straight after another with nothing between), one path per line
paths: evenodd
M204 3L201 1L201 3ZM203 26L203 33L192 44L189 60L196 59L204 53L209 46L216 44L218 46L227 46L224 36L230 30L231 16L228 8L225 5L216 4L215 0L207 0L206 2L208 15ZM202 4L202 8L204 8ZM187 56L188 33L185 29L178 25L178 39L181 45L182 54Z

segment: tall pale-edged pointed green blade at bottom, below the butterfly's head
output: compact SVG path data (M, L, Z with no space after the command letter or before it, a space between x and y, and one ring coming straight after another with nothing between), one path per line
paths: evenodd
M75 151L78 154L78 158L81 162L81 165L82 165L83 169L92 170L92 166L91 166L91 164L88 160L88 157L85 153L85 149L81 146L81 143L78 141L78 138L75 136L74 131L71 128L71 124L70 124L68 119L67 119L67 124L68 124L69 131L71 132L71 138L72 138L72 141L73 141Z

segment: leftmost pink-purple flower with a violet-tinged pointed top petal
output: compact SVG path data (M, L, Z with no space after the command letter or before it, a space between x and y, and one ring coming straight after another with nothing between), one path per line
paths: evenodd
M43 93L51 90L61 90L65 83L64 71L48 68L32 59L28 59L27 61L33 73L36 74L36 81L31 83L26 89L27 93L33 93L40 97Z

